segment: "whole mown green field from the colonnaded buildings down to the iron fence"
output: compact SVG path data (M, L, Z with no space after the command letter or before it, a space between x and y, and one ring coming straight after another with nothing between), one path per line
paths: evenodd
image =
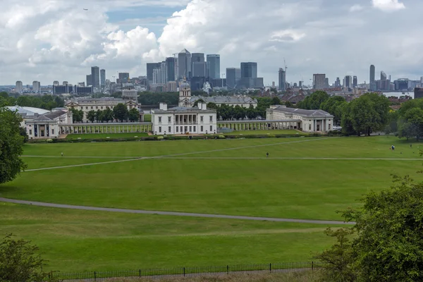
M388 188L391 173L422 180L419 147L386 136L32 144L24 149L28 169L61 168L21 173L0 185L0 197L338 220L336 210ZM80 164L91 165L63 167ZM61 271L307 261L331 243L324 225L1 203L0 226L0 235L33 240Z

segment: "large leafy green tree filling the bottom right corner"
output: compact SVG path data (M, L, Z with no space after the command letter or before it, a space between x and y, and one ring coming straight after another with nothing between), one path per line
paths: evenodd
M394 176L391 189L369 192L362 202L343 212L356 222L357 281L422 281L423 183Z

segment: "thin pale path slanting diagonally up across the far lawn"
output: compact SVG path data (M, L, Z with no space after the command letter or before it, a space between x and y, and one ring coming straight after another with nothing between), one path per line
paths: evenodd
M57 168L71 168L71 167L78 167L78 166L96 166L96 165L99 165L99 164L114 164L114 163L120 163L120 162L124 162L124 161L138 161L140 159L164 159L164 158L168 158L168 157L186 156L186 155L190 155L190 154L204 154L204 153L212 153L212 152L223 152L223 151L231 151L231 150L235 150L235 149L250 149L250 148L257 148L257 147L276 146L276 145L285 145L285 144L302 143L302 142L313 142L313 141L328 140L328 139L335 139L335 138L339 138L339 137L316 138L316 139L306 139L306 140L293 141L293 142L278 142L278 143L252 145L252 146L245 146L245 147L213 149L213 150L200 151L200 152L168 154L168 155L164 155L164 156L138 157L138 158L135 158L135 159L123 159L123 160L118 160L118 161L104 161L104 162L97 162L97 163L92 163L92 164L72 164L72 165L69 165L69 166L54 166L54 167L49 167L49 168L34 168L34 169L27 169L26 171L45 171L45 170L57 169Z

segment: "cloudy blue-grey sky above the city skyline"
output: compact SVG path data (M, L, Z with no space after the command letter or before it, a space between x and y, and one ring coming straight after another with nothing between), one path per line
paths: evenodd
M221 73L258 63L265 85L423 76L422 0L0 0L0 85L85 81L91 66L130 77L186 48ZM84 9L87 9L85 11ZM223 76L223 75L222 75Z

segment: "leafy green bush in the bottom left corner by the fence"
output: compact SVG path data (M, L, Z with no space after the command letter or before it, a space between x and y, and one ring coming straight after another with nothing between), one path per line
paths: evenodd
M37 254L38 251L39 248L30 241L15 240L13 235L7 235L0 243L0 281L51 281L49 273L42 271L46 261Z

